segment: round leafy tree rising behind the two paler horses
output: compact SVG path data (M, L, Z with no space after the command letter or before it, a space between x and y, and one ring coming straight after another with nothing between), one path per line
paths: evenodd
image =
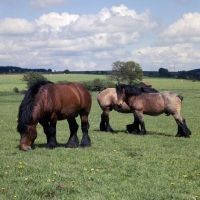
M142 68L134 61L121 62L116 61L112 65L112 71L109 74L111 80L117 83L137 84L142 81Z

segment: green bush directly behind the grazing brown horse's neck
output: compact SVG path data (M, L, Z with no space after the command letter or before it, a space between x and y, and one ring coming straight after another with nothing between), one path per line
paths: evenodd
M29 88L35 81L47 79L40 72L26 72L21 80L25 81L27 88Z

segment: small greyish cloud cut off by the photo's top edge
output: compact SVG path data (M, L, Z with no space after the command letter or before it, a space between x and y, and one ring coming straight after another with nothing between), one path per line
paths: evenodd
M51 6L61 5L67 0L31 0L30 6L33 9L44 9Z

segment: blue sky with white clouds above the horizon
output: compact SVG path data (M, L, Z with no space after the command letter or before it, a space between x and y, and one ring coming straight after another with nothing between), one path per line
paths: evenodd
M0 0L0 66L200 68L200 0Z

